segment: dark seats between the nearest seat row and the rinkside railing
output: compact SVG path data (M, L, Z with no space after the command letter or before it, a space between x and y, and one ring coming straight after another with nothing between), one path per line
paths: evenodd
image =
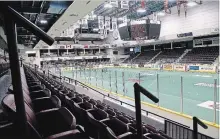
M35 76L61 100L62 107L71 111L87 136L96 139L136 139L136 121L133 117L85 94L74 92L47 76L38 73ZM144 123L142 130L145 139L170 139L163 131Z

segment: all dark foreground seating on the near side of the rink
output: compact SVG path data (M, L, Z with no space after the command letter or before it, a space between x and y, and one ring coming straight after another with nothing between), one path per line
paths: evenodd
M27 67L24 69L23 93L31 138L136 139L136 122L132 116L112 109L100 100L72 91L44 74L32 72ZM9 92L13 92L13 88ZM37 97L30 97L35 92ZM47 96L43 96L42 92L47 92ZM16 119L14 95L8 94L2 105L10 121L6 127L13 128L10 123ZM144 123L142 130L144 139L170 139Z

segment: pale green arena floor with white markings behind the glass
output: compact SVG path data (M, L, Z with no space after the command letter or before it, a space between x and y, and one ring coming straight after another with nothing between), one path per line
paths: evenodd
M111 74L110 74L111 73ZM123 78L124 74L124 78ZM218 74L158 71L144 69L105 68L65 71L62 75L75 78L112 92L134 98L133 84L139 82L145 89L157 94L159 82L160 107L181 112L181 76L183 81L183 114L214 121L214 79L217 79L217 113L219 124L219 79ZM110 76L111 75L111 76ZM117 77L117 78L116 78ZM140 79L140 80L139 80ZM124 86L123 86L124 83ZM142 101L154 104L146 97Z

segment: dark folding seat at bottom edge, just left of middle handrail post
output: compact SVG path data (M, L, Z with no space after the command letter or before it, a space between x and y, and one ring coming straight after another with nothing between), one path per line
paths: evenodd
M129 132L129 127L117 118L101 121L106 127L102 128L101 139L132 139L134 135Z

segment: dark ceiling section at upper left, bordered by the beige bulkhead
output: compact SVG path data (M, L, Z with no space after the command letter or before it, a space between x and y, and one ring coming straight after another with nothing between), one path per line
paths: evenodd
M65 12L72 1L10 1L8 4L24 17L47 32L57 19ZM19 44L34 47L39 38L17 25Z

